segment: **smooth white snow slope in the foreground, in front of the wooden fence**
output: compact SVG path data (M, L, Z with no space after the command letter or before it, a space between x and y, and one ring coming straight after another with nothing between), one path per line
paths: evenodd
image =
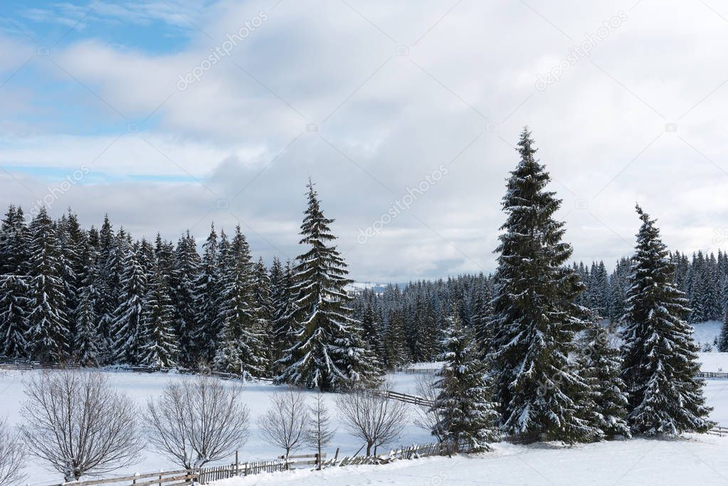
M496 445L492 453L384 466L291 471L224 479L215 486L726 485L728 438L633 439L557 447Z

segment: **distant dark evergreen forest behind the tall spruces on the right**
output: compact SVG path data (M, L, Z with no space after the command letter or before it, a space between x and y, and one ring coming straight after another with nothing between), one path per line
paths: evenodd
M726 319L728 311L728 252L690 257L682 252L667 256L674 268L673 282L687 298L687 321L697 324ZM574 300L596 316L620 322L627 310L630 258L620 258L610 273L604 261L572 263L584 285ZM439 338L448 326L451 309L476 332L487 334L483 324L491 315L492 275L461 275L434 281L410 282L403 288L389 284L381 292L360 290L354 304L357 316L373 322L373 345L388 367L406 362L432 361L440 353ZM728 324L717 351L728 352ZM389 336L403 337L393 343ZM480 342L486 340L485 335Z

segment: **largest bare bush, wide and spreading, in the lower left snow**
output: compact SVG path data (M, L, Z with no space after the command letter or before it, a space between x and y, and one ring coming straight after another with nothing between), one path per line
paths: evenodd
M44 371L25 384L21 413L29 452L66 481L138 461L134 405L98 372Z

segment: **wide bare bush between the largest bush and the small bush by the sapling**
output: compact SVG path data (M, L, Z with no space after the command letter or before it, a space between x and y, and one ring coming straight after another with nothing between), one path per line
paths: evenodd
M248 441L248 407L239 386L198 376L168 384L149 400L144 422L149 442L180 466L193 469L242 448Z

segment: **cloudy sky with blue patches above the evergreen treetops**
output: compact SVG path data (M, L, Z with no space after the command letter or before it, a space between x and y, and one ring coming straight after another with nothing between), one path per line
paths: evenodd
M350 276L495 268L524 126L577 260L728 239L716 0L0 3L0 204L295 258L316 184Z

